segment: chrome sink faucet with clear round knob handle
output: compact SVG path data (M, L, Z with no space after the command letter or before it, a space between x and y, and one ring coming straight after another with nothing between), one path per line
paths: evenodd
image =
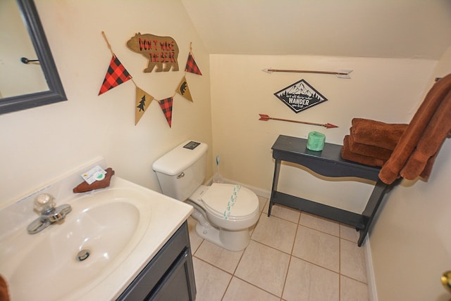
M72 211L72 207L68 204L55 207L54 198L47 193L40 194L35 200L35 211L40 216L27 226L29 234L38 233L54 222L61 221L66 215Z

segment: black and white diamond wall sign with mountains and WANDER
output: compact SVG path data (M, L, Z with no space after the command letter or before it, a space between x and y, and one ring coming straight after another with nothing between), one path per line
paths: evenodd
M311 87L304 79L274 93L274 95L295 113L327 101L326 97L321 95L319 91L316 91L314 87Z

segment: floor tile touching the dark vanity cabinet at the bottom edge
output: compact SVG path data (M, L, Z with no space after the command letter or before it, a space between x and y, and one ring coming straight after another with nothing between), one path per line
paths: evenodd
M196 257L192 258L192 264L197 289L196 301L221 300L232 275Z

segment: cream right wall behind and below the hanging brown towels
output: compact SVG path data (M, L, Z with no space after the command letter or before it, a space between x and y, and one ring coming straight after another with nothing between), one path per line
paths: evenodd
M451 48L429 82L451 72ZM448 301L440 276L451 269L451 141L446 139L427 182L403 181L371 231L378 300Z

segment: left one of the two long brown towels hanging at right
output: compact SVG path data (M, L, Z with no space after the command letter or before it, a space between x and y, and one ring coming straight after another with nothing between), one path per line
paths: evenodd
M450 90L451 74L439 79L428 91L426 98L416 111L404 134L402 134L392 155L379 172L379 179L385 184L392 184L395 179L400 177L402 167L419 143L431 117Z

